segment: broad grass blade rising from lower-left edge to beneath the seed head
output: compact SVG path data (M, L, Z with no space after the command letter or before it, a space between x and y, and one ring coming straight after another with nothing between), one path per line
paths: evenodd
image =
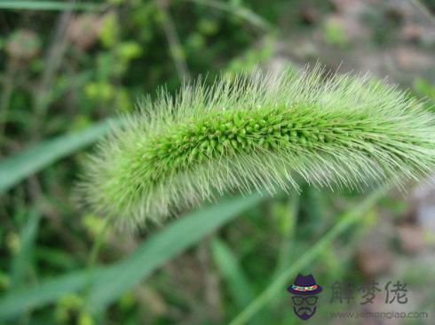
M96 268L91 276L91 308L100 310L151 275L163 263L197 243L203 236L265 199L258 194L235 197L188 213L142 243L121 262ZM62 275L28 290L14 291L0 299L0 319L11 318L29 308L45 306L68 293L83 290L86 270Z

